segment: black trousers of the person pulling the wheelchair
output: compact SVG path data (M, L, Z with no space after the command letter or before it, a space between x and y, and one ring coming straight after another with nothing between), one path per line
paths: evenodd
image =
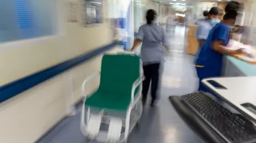
M148 95L148 89L151 81L151 97L152 102L157 98L157 88L159 81L159 67L160 63L148 64L143 66L143 72L145 80L142 83L142 101L146 101Z

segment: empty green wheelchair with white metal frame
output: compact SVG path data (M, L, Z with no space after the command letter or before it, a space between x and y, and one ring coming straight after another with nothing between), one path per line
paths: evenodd
M142 115L144 76L140 57L103 55L101 71L97 75L100 75L99 88L85 98L82 106L81 131L88 140L127 142ZM96 75L85 79L84 83L94 77Z

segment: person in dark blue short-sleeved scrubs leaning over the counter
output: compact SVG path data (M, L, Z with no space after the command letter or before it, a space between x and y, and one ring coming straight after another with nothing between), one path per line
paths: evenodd
M212 28L198 55L196 71L200 80L198 89L200 91L209 92L202 85L202 79L221 76L223 54L232 55L243 53L242 49L233 51L226 47L230 38L230 27L234 26L236 16L238 15L237 11L240 7L241 3L235 1L227 4L223 21Z

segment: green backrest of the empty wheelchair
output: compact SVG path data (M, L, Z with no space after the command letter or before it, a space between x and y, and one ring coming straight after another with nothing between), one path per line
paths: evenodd
M132 84L139 76L139 56L127 54L104 55L101 63L99 89L113 93L113 96L122 95L131 98Z

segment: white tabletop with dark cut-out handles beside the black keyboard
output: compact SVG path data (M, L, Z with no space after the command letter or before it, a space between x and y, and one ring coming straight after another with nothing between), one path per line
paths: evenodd
M217 89L208 80L214 80L227 89ZM256 121L256 114L241 106L244 103L256 106L256 77L209 78L202 82L236 110L242 111L241 114L249 115Z

